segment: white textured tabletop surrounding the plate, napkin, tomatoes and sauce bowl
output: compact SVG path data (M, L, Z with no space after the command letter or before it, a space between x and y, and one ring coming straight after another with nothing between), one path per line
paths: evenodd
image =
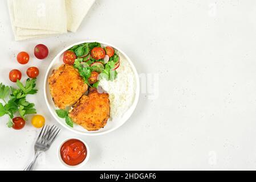
M255 10L254 0L99 0L76 34L17 43L1 1L0 81L10 84L10 69L25 75L27 67L38 66L40 91L30 100L47 123L56 124L44 104L43 76L51 59L72 43L112 43L127 53L139 73L160 79L159 97L151 90L141 94L137 110L120 129L98 137L63 129L36 169L66 169L56 150L68 137L80 137L90 146L84 170L255 169ZM19 51L32 55L38 43L50 48L47 60L31 56L25 66L15 61ZM23 169L32 158L36 130L28 124L14 131L5 123L0 118L0 169Z

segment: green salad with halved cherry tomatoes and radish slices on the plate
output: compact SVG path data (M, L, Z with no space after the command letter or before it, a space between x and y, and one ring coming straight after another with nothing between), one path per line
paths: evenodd
M64 52L65 64L74 65L84 82L97 88L104 78L113 81L117 78L116 69L120 66L120 57L114 48L103 47L100 43L83 43Z

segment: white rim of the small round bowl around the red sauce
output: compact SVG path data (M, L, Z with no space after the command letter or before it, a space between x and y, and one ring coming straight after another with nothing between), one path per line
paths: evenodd
M80 164L78 164L78 165L76 165L76 166L70 166L70 165L66 164L66 163L62 160L62 156L60 155L60 148L62 147L62 145L63 145L65 142L67 142L68 140L71 140L71 139L77 139L77 140L83 142L84 145L86 146L86 150L87 150L86 159L84 159L84 161L83 161L82 163L80 163ZM59 162L62 163L64 166L66 166L66 167L68 167L68 168L73 168L73 169L74 169L74 168L83 167L83 166L88 162L88 160L89 160L89 158L90 158L90 149L89 149L89 146L88 146L88 144L87 144L86 142L84 142L84 140L82 140L82 139L80 139L80 138L68 138L68 139L64 140L64 141L60 144L60 146L59 146L57 152L58 152L57 155L58 155L58 158L59 158Z

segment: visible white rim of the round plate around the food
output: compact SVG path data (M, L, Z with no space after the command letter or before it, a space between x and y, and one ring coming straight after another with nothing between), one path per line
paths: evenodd
M87 131L83 127L78 126L76 124L74 124L74 127L72 128L66 124L65 119L59 118L55 112L55 110L58 108L55 107L54 102L52 101L52 97L50 94L50 88L48 85L48 77L51 76L52 71L54 71L54 69L58 69L59 66L63 64L63 61L62 61L63 53L75 45L79 45L79 44L83 44L83 43L91 43L91 42L99 42L99 41L91 41L90 40L90 41L75 43L67 48L64 48L54 58L54 60L52 60L50 66L47 69L46 76L44 78L44 98L46 100L47 107L50 110L50 113L52 114L52 116L56 119L56 121L58 121L60 123L60 125L62 125L63 127L66 127L66 129L73 131L74 133L78 133L78 134L82 134L82 135L103 135L103 134L109 133L111 131L114 131L117 128L119 128L120 126L122 126L129 119L129 117L131 117L133 111L136 108L137 102L139 101L139 95L140 95L139 75L138 75L136 68L133 65L131 59L129 59L129 57L123 51L121 51L119 48L117 48L115 46L112 46L111 44L99 42L103 46L111 46L111 47L115 48L117 51L119 51L119 55L121 57L125 57L125 59L127 59L128 63L131 65L133 73L135 74L135 85L136 85L135 99L133 100L133 104L131 105L131 107L129 107L129 109L123 114L122 117L120 117L118 119L113 119L112 121L108 121L107 125L103 129L100 129L99 131Z

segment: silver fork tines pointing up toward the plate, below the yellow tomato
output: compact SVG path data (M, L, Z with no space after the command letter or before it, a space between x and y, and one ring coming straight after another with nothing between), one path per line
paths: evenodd
M58 135L60 129L56 127L55 125L53 126L43 126L42 130L40 131L40 134L38 136L38 139L36 140L36 143L41 143L41 144L51 144L56 136Z

